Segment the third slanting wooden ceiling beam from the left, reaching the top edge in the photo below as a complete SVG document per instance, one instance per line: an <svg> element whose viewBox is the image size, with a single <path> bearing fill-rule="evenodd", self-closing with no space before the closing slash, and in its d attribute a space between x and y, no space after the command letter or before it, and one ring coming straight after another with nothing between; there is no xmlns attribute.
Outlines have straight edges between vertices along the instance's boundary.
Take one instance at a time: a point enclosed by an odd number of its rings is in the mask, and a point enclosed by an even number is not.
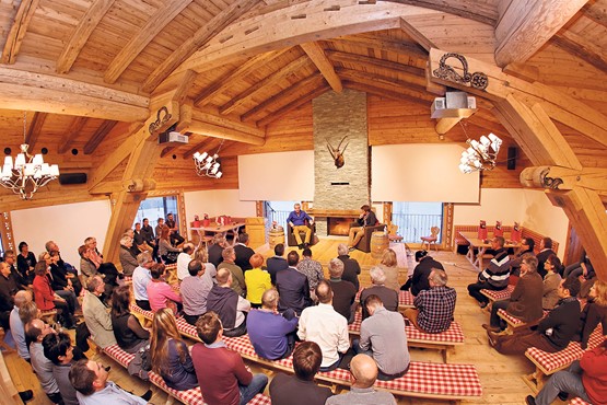
<svg viewBox="0 0 607 405"><path fill-rule="evenodd" d="M156 12L138 31L137 35L130 38L127 45L120 49L118 55L112 60L104 74L106 83L115 83L129 65L141 54L143 48L164 27L173 21L192 0L172 0L167 1L156 10Z"/></svg>

